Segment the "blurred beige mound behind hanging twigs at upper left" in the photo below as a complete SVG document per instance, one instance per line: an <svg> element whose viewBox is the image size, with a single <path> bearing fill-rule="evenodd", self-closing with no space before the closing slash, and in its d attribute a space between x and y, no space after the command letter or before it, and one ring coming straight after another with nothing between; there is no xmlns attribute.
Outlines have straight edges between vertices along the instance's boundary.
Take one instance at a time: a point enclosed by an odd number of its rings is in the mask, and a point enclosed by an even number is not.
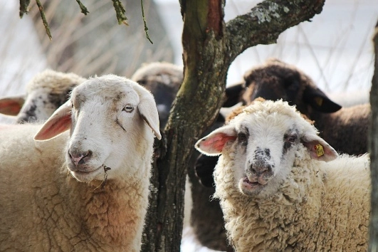
<svg viewBox="0 0 378 252"><path fill-rule="evenodd" d="M51 26L53 42L46 36L36 4L31 4L34 20L48 65L63 72L73 71L83 76L115 73L130 76L140 64L151 61L172 61L173 52L157 13L145 11L151 45L145 38L140 1L127 1L126 16L130 26L118 25L111 1L88 0L90 13L80 13L75 1L42 1L46 19Z"/></svg>

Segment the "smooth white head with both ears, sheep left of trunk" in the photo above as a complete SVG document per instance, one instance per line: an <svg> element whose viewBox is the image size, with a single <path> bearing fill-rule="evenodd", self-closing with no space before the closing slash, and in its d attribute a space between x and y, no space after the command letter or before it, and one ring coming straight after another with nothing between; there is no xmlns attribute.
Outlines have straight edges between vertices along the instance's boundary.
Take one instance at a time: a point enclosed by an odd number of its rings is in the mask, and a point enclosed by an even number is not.
<svg viewBox="0 0 378 252"><path fill-rule="evenodd" d="M161 137L153 96L137 83L115 75L92 78L75 88L35 139L48 140L68 129L68 169L81 182L103 179L108 168L107 179L122 179L125 156L130 157L127 167L133 167L132 157L151 145L152 130ZM127 142L132 149L125 149Z"/></svg>

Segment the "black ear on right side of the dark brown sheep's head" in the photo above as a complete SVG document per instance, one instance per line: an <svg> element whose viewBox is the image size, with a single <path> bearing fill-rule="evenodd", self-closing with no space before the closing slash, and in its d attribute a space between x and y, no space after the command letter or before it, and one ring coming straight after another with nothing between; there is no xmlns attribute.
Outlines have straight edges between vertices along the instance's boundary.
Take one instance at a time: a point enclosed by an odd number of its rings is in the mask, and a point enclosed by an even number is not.
<svg viewBox="0 0 378 252"><path fill-rule="evenodd" d="M332 102L319 88L307 86L303 92L303 101L319 112L332 113L341 109L341 106Z"/></svg>

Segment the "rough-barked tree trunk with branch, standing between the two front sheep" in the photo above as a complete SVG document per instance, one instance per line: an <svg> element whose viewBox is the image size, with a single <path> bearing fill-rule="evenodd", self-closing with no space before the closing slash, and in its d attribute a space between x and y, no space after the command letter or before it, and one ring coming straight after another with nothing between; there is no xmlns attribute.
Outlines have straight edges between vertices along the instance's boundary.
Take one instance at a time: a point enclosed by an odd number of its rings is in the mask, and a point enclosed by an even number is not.
<svg viewBox="0 0 378 252"><path fill-rule="evenodd" d="M324 1L263 1L224 23L224 1L180 1L184 30L184 83L163 142L157 143L142 251L179 251L184 183L194 143L222 105L226 74L246 48L274 43L286 28L320 13ZM164 143L164 144L163 144ZM190 167L191 168L191 167Z"/></svg>

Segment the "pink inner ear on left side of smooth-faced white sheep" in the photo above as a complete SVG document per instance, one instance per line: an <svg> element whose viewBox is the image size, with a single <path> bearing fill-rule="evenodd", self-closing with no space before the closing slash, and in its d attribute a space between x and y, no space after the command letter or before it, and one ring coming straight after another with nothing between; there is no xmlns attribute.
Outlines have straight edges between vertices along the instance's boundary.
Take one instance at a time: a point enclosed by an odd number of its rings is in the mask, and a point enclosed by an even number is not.
<svg viewBox="0 0 378 252"><path fill-rule="evenodd" d="M61 133L69 130L72 124L71 120L71 101L68 100L56 110L53 115L42 125L41 129L34 136L34 140L49 140Z"/></svg>

